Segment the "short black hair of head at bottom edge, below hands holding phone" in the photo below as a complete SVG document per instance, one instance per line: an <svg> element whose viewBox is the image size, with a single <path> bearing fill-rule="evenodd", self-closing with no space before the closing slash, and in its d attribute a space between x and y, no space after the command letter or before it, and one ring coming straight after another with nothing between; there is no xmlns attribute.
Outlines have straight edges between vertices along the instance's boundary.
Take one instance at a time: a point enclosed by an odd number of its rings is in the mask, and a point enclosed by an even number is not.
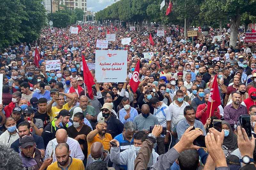
<svg viewBox="0 0 256 170"><path fill-rule="evenodd" d="M199 154L195 149L188 149L180 153L178 158L180 170L196 170L199 162Z"/></svg>

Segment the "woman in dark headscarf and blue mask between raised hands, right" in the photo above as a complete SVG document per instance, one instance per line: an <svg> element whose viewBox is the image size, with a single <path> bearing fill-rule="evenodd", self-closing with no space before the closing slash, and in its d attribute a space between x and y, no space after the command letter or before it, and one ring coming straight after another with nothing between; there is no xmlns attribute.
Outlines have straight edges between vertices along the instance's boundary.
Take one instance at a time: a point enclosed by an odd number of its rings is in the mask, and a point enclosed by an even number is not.
<svg viewBox="0 0 256 170"><path fill-rule="evenodd" d="M224 129L224 141L222 145L223 152L225 156L231 154L238 148L237 145L237 136L233 133L230 124L227 121L221 122L222 129Z"/></svg>

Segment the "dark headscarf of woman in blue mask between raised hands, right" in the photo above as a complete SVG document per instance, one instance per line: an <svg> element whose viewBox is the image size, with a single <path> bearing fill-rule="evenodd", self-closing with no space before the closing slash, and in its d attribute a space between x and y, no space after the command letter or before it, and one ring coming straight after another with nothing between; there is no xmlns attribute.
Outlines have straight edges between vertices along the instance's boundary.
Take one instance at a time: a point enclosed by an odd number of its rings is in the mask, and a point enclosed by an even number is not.
<svg viewBox="0 0 256 170"><path fill-rule="evenodd" d="M233 151L238 148L237 145L237 136L234 134L230 124L227 121L222 121L221 125L226 124L229 128L229 134L227 137L224 137L223 145L228 147L229 150Z"/></svg>

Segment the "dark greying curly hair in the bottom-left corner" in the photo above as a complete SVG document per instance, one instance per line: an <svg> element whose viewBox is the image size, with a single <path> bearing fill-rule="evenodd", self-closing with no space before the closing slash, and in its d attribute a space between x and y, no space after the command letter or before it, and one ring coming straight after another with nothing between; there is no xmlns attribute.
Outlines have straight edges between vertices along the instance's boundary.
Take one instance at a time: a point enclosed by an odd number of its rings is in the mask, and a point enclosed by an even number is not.
<svg viewBox="0 0 256 170"><path fill-rule="evenodd" d="M1 163L1 169L23 170L19 153L3 145L0 145L0 151L0 160L4 162Z"/></svg>

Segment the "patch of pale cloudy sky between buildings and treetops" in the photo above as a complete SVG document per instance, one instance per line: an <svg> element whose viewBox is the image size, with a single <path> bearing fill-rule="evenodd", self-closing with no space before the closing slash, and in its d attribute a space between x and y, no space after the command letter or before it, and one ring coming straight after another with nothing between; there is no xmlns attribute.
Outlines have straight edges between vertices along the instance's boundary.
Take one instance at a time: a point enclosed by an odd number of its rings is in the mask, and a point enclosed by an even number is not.
<svg viewBox="0 0 256 170"><path fill-rule="evenodd" d="M112 3L113 0L87 0L87 11L100 11Z"/></svg>

